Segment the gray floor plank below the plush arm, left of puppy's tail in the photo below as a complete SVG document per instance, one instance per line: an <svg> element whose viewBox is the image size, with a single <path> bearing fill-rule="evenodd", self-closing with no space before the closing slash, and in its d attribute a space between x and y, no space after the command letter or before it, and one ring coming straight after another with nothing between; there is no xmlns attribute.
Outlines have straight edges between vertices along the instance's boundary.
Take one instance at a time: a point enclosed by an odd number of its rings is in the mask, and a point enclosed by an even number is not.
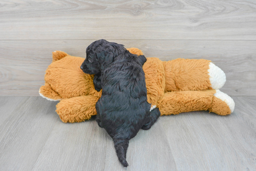
<svg viewBox="0 0 256 171"><path fill-rule="evenodd" d="M103 170L107 133L95 120L58 122L32 170ZM115 152L115 151L114 151Z"/></svg>

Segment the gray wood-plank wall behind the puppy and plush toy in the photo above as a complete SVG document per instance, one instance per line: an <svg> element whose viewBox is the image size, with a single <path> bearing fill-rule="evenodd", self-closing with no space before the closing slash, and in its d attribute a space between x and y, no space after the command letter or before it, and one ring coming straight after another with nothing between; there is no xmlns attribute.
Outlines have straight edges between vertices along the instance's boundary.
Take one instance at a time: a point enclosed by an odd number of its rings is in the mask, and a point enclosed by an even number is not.
<svg viewBox="0 0 256 171"><path fill-rule="evenodd" d="M221 91L256 96L254 0L0 0L0 95L38 96L52 51L85 57L97 39L212 60L227 76Z"/></svg>

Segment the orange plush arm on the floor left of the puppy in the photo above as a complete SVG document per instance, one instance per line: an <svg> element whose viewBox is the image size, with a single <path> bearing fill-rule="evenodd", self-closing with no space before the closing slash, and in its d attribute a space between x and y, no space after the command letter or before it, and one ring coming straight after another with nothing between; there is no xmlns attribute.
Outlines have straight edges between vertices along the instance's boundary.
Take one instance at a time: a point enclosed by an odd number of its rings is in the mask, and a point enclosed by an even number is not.
<svg viewBox="0 0 256 171"><path fill-rule="evenodd" d="M63 122L82 122L96 115L95 104L99 97L79 96L63 99L56 105L56 112Z"/></svg>

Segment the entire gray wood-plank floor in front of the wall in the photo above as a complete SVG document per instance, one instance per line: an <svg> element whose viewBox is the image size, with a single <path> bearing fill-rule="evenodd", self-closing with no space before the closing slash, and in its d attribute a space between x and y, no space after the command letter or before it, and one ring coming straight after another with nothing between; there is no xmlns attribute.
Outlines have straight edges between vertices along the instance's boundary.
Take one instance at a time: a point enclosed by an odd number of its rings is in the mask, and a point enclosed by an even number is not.
<svg viewBox="0 0 256 171"><path fill-rule="evenodd" d="M57 102L0 97L0 170L255 170L256 97L233 98L228 116L161 116L130 140L126 169L95 120L63 123Z"/></svg>

